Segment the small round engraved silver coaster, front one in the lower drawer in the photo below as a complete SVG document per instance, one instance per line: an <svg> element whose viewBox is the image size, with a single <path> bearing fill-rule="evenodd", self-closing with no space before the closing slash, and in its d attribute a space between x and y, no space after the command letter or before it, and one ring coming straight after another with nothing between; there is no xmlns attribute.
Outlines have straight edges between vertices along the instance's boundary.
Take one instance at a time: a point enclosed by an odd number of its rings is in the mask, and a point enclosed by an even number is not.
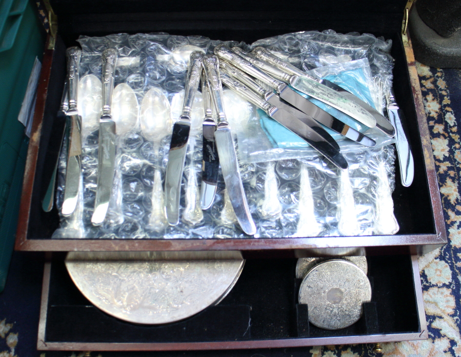
<svg viewBox="0 0 461 357"><path fill-rule="evenodd" d="M327 260L313 267L301 282L299 302L307 304L309 321L322 329L339 330L357 322L362 303L371 300L365 273L346 260Z"/></svg>

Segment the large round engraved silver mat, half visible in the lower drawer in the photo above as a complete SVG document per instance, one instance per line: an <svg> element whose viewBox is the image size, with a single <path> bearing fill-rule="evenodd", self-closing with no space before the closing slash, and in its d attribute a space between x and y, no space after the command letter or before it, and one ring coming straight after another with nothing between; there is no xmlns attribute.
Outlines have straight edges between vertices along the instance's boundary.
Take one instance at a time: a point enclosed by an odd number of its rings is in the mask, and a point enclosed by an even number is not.
<svg viewBox="0 0 461 357"><path fill-rule="evenodd" d="M244 265L243 259L79 260L70 254L65 264L81 293L107 314L139 324L179 321L219 303Z"/></svg>

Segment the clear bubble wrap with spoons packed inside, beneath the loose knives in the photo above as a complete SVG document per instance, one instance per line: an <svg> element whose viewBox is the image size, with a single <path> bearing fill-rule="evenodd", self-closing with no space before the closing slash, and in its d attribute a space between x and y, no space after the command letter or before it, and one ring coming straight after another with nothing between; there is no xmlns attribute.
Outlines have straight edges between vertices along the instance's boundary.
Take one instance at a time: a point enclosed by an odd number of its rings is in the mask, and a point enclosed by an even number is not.
<svg viewBox="0 0 461 357"><path fill-rule="evenodd" d="M200 209L201 121L204 117L200 93L192 109L191 134L182 179L180 223L168 226L164 210L164 173L172 125L179 119L182 110L189 55L196 50L211 53L222 42L164 33L81 37L79 41L82 47L78 93L83 145L81 199L72 216L61 217L60 228L53 237L248 237L237 223L221 175L214 204L208 210ZM317 78L334 76L336 82L340 82L338 84L341 84L341 78L359 69L359 84L367 91L363 94L358 90L357 94L381 110L376 88L391 78L392 59L382 52L389 50L390 42L371 35L339 35L329 31L283 35L260 40L251 47L233 41L225 43L229 47L239 45L246 50L264 45L282 59L309 70ZM319 50L313 52L309 46ZM117 169L106 219L102 225L93 226L101 53L109 47L117 48L119 52L112 97L112 115L117 128ZM318 65L323 68L312 71ZM373 149L350 145L350 142L347 145L349 140L341 140L346 142L340 141L341 152L349 162L349 170L341 174L307 144L293 147L293 142L287 141L286 147L280 142L274 145L274 140L262 124L260 110L229 89L224 89L223 96L226 114L236 137L246 197L258 227L255 238L395 233L395 229L386 229L389 225L386 222L391 222L393 217L390 194L395 182L395 155L393 146L386 145L392 140L383 140ZM66 153L63 150L58 177L59 209L65 165ZM382 197L387 199L387 203L380 205ZM389 218L389 215L392 217ZM348 223L343 224L344 221Z"/></svg>

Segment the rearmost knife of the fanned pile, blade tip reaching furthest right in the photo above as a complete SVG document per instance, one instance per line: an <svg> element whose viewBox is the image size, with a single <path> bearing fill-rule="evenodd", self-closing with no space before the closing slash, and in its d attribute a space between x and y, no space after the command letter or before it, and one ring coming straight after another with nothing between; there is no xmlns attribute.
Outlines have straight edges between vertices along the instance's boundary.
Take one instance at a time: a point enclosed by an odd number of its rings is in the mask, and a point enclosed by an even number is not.
<svg viewBox="0 0 461 357"><path fill-rule="evenodd" d="M327 79L317 80L317 79L310 77L307 73L301 71L300 69L296 68L292 64L287 63L277 58L264 47L261 47L261 46L256 47L251 54L254 55L256 58L266 61L267 63L272 64L274 67L282 71L285 71L287 74L316 80L319 83L325 85L326 87L331 88L338 93L341 93L344 97L346 97L347 99L350 99L352 102L357 103L367 112L369 112L373 116L373 118L375 118L376 120L376 127L380 129L384 134L390 137L393 137L395 135L394 127L389 123L389 121L386 118L384 118L381 115L380 112L375 110L375 108L373 108L372 106L370 106L368 103L364 102L357 96L354 96L352 93L340 87L339 85Z"/></svg>

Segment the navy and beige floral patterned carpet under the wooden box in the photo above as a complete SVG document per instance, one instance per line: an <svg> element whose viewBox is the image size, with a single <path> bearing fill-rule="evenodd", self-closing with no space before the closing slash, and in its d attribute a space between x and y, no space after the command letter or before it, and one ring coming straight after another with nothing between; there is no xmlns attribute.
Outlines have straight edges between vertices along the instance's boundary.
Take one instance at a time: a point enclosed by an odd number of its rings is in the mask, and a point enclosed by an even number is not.
<svg viewBox="0 0 461 357"><path fill-rule="evenodd" d="M449 244L419 260L429 339L382 343L382 356L461 356L461 145L458 133L458 121L461 120L461 70L441 70L418 64L418 74ZM0 357L84 356L84 353L40 353L36 350L42 270L42 254L14 254L6 288L0 295ZM373 344L364 344L198 353L134 353L129 356L377 356L373 347ZM102 352L92 353L91 356L121 357L128 354Z"/></svg>

